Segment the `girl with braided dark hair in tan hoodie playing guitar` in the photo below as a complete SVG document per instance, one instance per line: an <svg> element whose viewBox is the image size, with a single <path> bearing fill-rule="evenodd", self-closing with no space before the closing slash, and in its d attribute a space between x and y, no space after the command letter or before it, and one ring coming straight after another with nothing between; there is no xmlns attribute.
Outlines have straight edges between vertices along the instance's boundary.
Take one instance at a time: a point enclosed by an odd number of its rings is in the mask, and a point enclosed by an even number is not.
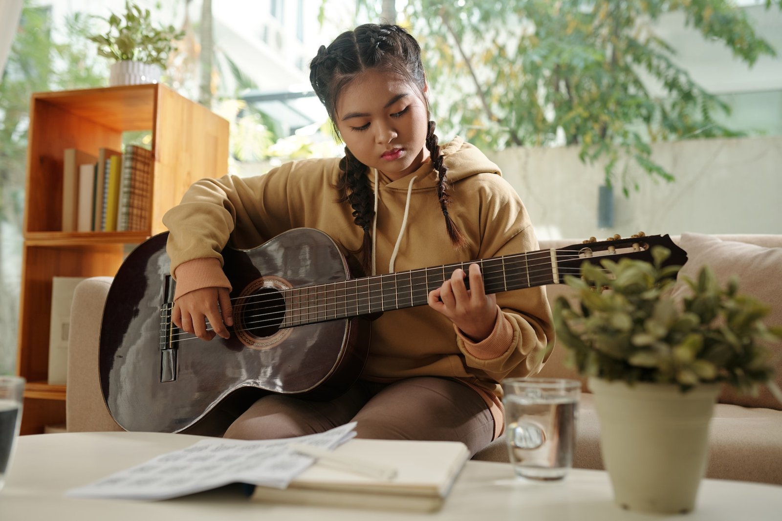
<svg viewBox="0 0 782 521"><path fill-rule="evenodd" d="M538 248L497 165L461 138L438 145L421 49L403 28L366 24L321 45L310 81L345 156L192 185L163 218L178 327L228 338L221 250L291 228L326 232L372 275ZM504 429L500 380L540 370L554 332L544 289L486 295L479 265L468 271L433 289L428 307L372 322L367 364L343 396L267 395L224 435L294 437L357 421L358 437L457 440L475 454Z"/></svg>

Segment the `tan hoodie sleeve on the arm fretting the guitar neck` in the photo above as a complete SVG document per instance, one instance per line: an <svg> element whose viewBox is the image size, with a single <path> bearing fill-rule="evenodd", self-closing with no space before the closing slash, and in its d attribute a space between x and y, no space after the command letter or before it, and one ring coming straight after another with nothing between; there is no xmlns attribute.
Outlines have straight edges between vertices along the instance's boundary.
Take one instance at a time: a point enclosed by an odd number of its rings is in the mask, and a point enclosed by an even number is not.
<svg viewBox="0 0 782 521"><path fill-rule="evenodd" d="M475 177L479 178L477 193L482 198L474 230L481 237L476 258L539 250L529 215L515 190L497 175ZM495 382L535 374L547 358L547 345L554 341L545 288L497 293L497 305L500 313L489 338L473 343L457 332L465 363L479 377Z"/></svg>

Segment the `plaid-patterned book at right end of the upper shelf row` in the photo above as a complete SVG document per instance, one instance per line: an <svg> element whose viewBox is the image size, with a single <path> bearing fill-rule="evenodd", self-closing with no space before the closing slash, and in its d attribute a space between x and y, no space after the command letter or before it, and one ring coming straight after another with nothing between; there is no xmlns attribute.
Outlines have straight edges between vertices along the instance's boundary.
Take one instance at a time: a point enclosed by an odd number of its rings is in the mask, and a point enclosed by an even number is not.
<svg viewBox="0 0 782 521"><path fill-rule="evenodd" d="M122 161L122 190L117 229L138 231L149 228L152 195L152 150L130 145Z"/></svg>

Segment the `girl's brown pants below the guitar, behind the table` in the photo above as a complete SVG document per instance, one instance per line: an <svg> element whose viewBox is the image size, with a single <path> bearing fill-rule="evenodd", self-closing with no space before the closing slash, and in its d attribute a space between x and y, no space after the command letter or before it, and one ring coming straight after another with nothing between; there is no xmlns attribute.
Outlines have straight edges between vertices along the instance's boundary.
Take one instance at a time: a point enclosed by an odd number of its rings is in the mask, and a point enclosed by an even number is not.
<svg viewBox="0 0 782 521"><path fill-rule="evenodd" d="M421 376L391 384L360 381L325 402L264 396L231 423L224 437L288 438L353 421L360 438L461 441L471 455L494 434L489 408L475 390L452 379Z"/></svg>

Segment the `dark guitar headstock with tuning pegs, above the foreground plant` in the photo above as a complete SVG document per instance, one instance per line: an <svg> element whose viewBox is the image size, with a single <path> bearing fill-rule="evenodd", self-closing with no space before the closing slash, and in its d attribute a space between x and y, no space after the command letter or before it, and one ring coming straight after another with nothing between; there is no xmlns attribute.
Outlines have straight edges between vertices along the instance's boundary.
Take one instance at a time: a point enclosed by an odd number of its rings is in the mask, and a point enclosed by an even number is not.
<svg viewBox="0 0 782 521"><path fill-rule="evenodd" d="M665 246L671 252L670 256L663 261L663 266L682 266L687 262L687 252L673 243L670 235L645 235L644 232L638 232L626 239L622 239L619 235L604 241L590 237L583 243L558 248L558 275L560 280L564 280L565 275L577 275L585 260L597 265L605 258L618 262L622 257L653 262L651 249L654 246Z"/></svg>

